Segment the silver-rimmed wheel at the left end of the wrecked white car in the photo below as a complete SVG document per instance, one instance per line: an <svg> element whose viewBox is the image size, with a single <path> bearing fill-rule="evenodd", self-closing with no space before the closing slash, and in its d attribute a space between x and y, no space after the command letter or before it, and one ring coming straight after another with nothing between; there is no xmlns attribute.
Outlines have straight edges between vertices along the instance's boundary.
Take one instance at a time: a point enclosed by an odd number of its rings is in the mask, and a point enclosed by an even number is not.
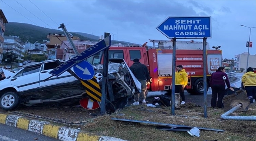
<svg viewBox="0 0 256 141"><path fill-rule="evenodd" d="M0 98L0 107L3 110L15 110L19 105L20 97L16 92L6 92Z"/></svg>

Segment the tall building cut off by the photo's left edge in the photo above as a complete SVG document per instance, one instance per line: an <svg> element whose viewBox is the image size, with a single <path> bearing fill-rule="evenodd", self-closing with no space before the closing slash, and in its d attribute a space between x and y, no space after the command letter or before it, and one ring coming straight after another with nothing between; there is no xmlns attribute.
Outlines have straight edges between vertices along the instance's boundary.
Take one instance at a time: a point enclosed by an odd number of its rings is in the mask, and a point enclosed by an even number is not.
<svg viewBox="0 0 256 141"><path fill-rule="evenodd" d="M4 12L0 9L0 63L3 59L4 32L6 31L6 23L8 23Z"/></svg>

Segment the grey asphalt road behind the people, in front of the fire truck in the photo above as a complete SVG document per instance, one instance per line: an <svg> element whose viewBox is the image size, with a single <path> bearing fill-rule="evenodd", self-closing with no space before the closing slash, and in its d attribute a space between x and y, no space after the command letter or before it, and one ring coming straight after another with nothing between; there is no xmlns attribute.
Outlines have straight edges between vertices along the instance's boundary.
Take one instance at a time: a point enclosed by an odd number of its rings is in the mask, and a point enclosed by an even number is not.
<svg viewBox="0 0 256 141"><path fill-rule="evenodd" d="M237 80L230 83L231 87L237 87L237 88L241 87L242 76L243 76L243 73L237 73L236 74ZM154 96L159 96L160 94L167 94L167 93L166 92L152 92L152 93L150 92L150 94L148 94L147 101L149 103L151 103ZM207 92L208 107L211 106L211 94L212 94L212 91L211 91L211 88L209 88L209 90ZM171 99L171 96L169 96L169 98ZM204 105L204 95L192 95L192 94L189 94L185 90L185 102L196 103L197 105L203 106Z"/></svg>

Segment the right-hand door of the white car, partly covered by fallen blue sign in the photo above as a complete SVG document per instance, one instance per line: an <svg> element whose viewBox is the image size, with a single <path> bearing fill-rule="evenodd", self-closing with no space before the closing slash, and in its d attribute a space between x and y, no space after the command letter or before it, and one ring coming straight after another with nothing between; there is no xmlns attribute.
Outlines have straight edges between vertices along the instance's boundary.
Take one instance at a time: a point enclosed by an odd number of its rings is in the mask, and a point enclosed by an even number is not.
<svg viewBox="0 0 256 141"><path fill-rule="evenodd" d="M53 76L53 77L49 78L50 76L52 76L52 74L49 74L49 72L52 71L53 69L55 69L58 66L59 66L59 64L57 63L56 60L48 61L48 62L45 62L43 64L43 67L41 68L40 76L39 76L40 87L53 86L53 85L56 85L56 84L68 83L68 82L72 82L72 81L77 80L74 76L72 76L67 71L64 72L63 74L61 74L58 77ZM44 81L46 78L49 78L49 79Z"/></svg>

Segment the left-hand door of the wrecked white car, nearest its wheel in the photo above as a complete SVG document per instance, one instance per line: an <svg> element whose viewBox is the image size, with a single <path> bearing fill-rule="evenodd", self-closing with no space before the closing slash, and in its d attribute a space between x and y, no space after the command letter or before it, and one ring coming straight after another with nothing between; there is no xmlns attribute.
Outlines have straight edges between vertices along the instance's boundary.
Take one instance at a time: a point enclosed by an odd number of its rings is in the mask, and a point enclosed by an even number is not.
<svg viewBox="0 0 256 141"><path fill-rule="evenodd" d="M11 78L11 84L18 87L20 92L39 88L39 71L41 65L42 63L25 67Z"/></svg>

